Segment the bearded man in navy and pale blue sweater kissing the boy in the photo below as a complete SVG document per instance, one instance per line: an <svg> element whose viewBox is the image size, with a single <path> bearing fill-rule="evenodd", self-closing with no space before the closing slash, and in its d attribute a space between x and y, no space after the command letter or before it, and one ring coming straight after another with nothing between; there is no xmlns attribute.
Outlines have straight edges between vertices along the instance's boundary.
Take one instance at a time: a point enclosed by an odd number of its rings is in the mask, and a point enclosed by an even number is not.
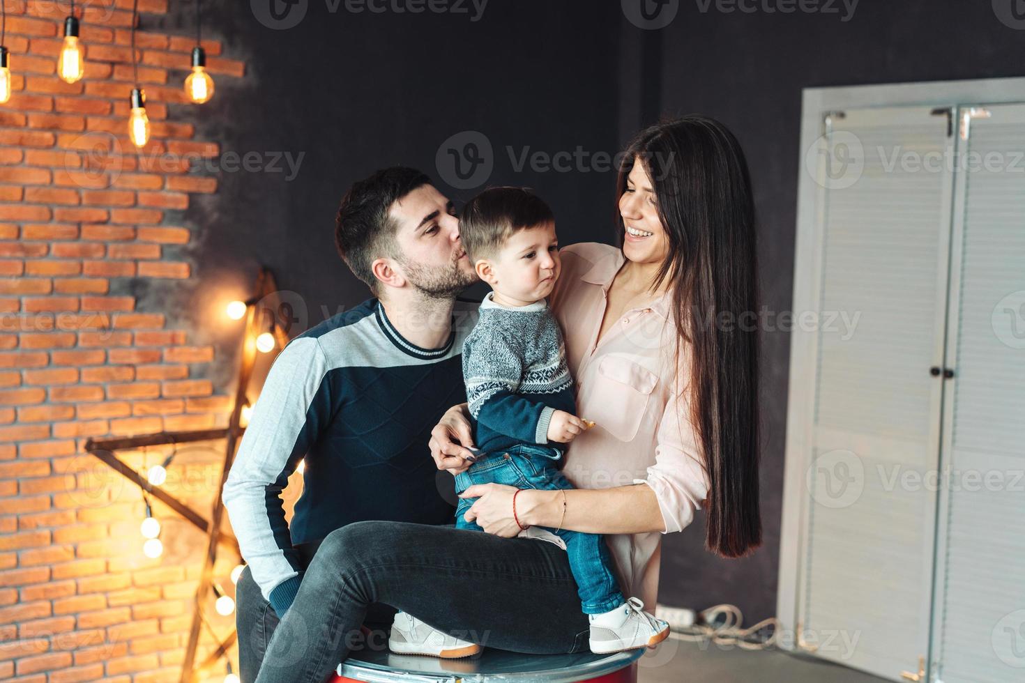
<svg viewBox="0 0 1025 683"><path fill-rule="evenodd" d="M237 588L243 681L255 679L328 533L361 520L453 521L427 445L444 410L465 400L460 352L478 308L456 300L477 275L453 214L409 168L377 171L342 198L338 251L375 298L282 350L222 494L248 563ZM302 460L289 527L280 494ZM406 642L474 646L422 623L400 634Z"/></svg>

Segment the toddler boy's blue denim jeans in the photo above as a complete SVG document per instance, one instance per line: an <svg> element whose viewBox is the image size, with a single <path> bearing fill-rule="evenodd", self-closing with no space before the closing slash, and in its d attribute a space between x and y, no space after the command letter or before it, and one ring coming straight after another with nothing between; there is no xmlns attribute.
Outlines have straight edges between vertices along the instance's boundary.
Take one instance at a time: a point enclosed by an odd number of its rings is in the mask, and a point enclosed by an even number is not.
<svg viewBox="0 0 1025 683"><path fill-rule="evenodd" d="M481 454L468 470L455 476L455 492L461 494L477 483L502 483L517 488L547 490L573 488L573 484L557 467L562 457L563 454L558 449L529 443ZM467 522L463 518L476 500L459 499L455 511L456 528L484 530L476 522ZM577 593L585 614L602 614L625 602L619 591L619 583L612 573L609 549L600 535L566 529L556 531L554 528L547 530L566 542L570 569L576 580Z"/></svg>

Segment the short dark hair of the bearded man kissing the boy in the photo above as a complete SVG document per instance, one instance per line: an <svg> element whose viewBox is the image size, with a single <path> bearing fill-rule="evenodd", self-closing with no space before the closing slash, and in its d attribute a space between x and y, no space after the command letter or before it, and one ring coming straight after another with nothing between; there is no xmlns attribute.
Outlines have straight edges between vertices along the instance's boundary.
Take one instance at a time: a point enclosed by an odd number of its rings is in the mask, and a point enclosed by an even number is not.
<svg viewBox="0 0 1025 683"><path fill-rule="evenodd" d="M430 178L424 173L393 166L353 183L341 198L335 217L335 245L353 274L374 294L379 291L379 283L370 264L382 256L398 256L395 242L398 226L388 216L388 209L417 187L429 184Z"/></svg>

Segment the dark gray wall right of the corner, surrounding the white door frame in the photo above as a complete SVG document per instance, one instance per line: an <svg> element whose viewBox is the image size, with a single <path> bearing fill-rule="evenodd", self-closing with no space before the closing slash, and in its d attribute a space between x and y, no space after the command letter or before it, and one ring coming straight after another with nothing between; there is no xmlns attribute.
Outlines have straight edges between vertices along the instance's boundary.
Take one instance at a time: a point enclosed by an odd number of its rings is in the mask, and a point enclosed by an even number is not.
<svg viewBox="0 0 1025 683"><path fill-rule="evenodd" d="M702 12L704 0L682 0L672 23L650 32L662 55L659 110L714 117L744 146L763 303L777 312L789 310L792 299L802 88L1020 76L1025 63L1025 31L998 20L988 0L861 0L847 22L843 2L831 4L838 14L725 13L714 0ZM665 539L660 594L670 604L735 603L748 624L776 611L787 334L764 335L763 364L765 547L746 560L716 559L702 550L695 523Z"/></svg>

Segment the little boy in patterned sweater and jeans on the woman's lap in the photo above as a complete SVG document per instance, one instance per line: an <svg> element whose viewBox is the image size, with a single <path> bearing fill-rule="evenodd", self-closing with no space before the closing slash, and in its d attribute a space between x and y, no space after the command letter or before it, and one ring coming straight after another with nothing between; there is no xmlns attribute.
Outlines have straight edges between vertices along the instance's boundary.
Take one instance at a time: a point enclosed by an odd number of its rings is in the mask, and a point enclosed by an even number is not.
<svg viewBox="0 0 1025 683"><path fill-rule="evenodd" d="M566 444L587 423L574 415L562 332L544 299L561 267L551 210L530 190L493 187L463 209L459 233L478 275L493 291L462 347L479 455L456 475L456 493L488 482L572 488L561 472ZM464 518L474 500L459 500L458 528L483 530ZM601 536L548 530L565 543L590 622L592 652L646 647L668 636L668 624L643 611L637 598L624 599Z"/></svg>

